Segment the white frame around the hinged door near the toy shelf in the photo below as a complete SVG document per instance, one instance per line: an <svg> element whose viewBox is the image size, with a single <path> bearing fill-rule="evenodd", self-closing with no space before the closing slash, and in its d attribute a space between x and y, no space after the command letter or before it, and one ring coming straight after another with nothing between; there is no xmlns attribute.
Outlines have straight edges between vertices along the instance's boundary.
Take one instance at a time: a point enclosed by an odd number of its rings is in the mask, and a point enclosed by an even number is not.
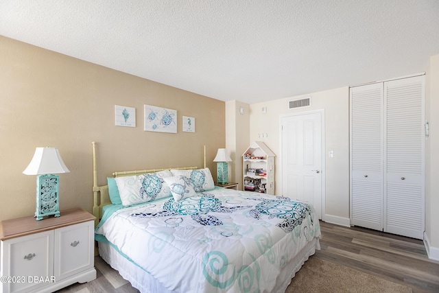
<svg viewBox="0 0 439 293"><path fill-rule="evenodd" d="M324 137L325 137L325 131L324 131L324 109L320 109L320 110L309 110L309 111L303 111L303 112L296 112L296 113L289 113L289 114L283 114L283 115L279 115L279 165L280 165L280 178L281 178L281 194L283 195L283 131L282 131L282 122L283 119L288 118L288 117L293 117L293 116L302 116L302 115L310 115L310 114L316 114L316 113L320 113L320 116L322 118L321 121L321 128L322 128L322 145L321 145L321 150L322 150L322 176L321 176L321 184L322 184L322 191L321 191L321 200L322 200L322 221L326 220L326 149L324 148Z"/></svg>

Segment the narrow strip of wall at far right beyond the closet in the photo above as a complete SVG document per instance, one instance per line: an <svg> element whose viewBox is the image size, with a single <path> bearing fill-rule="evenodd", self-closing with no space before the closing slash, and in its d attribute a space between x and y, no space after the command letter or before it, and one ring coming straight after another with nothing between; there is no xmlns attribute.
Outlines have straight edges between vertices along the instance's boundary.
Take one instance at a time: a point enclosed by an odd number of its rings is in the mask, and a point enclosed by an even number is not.
<svg viewBox="0 0 439 293"><path fill-rule="evenodd" d="M425 242L429 256L439 261L439 55L430 58L425 90L425 118L429 121L429 138L425 141Z"/></svg>

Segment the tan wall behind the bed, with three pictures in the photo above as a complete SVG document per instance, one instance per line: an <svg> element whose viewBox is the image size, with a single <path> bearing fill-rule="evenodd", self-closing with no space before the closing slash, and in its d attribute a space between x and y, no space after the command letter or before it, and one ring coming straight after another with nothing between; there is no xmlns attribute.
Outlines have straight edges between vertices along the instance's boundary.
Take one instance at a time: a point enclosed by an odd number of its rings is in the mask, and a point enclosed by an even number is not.
<svg viewBox="0 0 439 293"><path fill-rule="evenodd" d="M136 108L136 128L115 126L115 105ZM178 133L143 131L143 105L177 110ZM182 115L195 133L182 132ZM36 147L60 150L60 209L91 211L92 141L99 185L127 169L202 167L214 178L225 145L225 103L0 36L0 220L32 215L36 176L22 174Z"/></svg>

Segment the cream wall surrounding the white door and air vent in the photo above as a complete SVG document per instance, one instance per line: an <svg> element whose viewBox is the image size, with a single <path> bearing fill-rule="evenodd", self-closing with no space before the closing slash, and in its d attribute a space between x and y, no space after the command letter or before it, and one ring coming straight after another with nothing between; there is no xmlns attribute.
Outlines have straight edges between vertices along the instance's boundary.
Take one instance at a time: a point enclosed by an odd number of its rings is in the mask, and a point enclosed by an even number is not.
<svg viewBox="0 0 439 293"><path fill-rule="evenodd" d="M311 97L311 106L289 110L292 99ZM266 107L266 114L262 108ZM280 154L280 116L311 110L324 110L324 145L327 154L334 152L333 158L326 158L326 187L324 218L330 222L348 224L349 218L349 89L343 87L308 95L277 99L250 105L250 142L263 141L276 154L275 193L282 194ZM263 134L263 137L259 137Z"/></svg>

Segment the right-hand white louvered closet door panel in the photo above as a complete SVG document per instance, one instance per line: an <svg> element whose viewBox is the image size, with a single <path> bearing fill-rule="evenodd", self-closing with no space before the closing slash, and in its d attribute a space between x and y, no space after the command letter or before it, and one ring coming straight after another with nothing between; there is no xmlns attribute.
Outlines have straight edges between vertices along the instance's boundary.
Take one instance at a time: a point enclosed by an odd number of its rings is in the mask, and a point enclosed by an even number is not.
<svg viewBox="0 0 439 293"><path fill-rule="evenodd" d="M424 76L384 83L384 231L423 239Z"/></svg>

